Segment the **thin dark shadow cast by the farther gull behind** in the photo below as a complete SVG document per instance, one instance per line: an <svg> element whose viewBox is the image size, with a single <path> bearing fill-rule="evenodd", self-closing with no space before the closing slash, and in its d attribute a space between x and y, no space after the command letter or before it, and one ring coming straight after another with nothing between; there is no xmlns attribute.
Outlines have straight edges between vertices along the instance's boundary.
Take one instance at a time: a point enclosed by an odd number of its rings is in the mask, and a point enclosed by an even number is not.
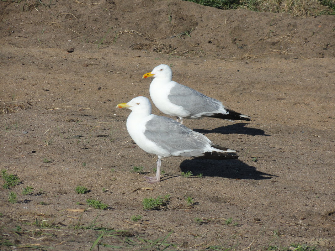
<svg viewBox="0 0 335 251"><path fill-rule="evenodd" d="M265 134L265 132L261 129L245 127L248 123L236 123L230 124L229 126L223 126L214 128L212 130L206 129L193 129L193 131L207 134L207 133L220 133L220 134L247 134L247 135L260 135L260 136L270 136L269 134Z"/></svg>

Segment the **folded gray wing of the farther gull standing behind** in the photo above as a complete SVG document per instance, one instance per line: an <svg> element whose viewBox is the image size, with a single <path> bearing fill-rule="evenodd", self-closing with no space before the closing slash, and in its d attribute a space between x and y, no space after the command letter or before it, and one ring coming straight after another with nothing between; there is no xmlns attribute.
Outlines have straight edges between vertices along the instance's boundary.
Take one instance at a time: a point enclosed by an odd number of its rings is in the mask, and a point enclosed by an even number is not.
<svg viewBox="0 0 335 251"><path fill-rule="evenodd" d="M218 112L223 106L220 101L181 84L174 86L167 98L171 103L183 106L185 110L194 115Z"/></svg>

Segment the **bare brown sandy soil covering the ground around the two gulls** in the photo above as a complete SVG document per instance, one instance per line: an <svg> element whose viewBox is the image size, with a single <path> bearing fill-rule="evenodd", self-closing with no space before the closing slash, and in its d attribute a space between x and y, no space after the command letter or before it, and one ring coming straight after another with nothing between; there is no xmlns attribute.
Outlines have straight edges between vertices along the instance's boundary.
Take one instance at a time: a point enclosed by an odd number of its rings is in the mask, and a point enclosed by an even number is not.
<svg viewBox="0 0 335 251"><path fill-rule="evenodd" d="M94 250L334 250L335 16L46 2L0 3L0 167L21 181L0 188L0 250L89 250L102 233ZM252 117L185 121L238 160L167 158L156 184L132 172L153 175L156 156L136 147L130 111L115 107L149 97L141 77L162 63ZM166 194L167 206L143 210L144 198Z"/></svg>

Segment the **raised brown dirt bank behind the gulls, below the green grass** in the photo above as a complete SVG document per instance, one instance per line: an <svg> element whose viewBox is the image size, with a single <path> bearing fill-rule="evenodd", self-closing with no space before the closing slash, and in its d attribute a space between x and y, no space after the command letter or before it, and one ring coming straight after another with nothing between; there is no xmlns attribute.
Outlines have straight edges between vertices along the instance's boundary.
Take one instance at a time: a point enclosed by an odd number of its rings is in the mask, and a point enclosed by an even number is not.
<svg viewBox="0 0 335 251"><path fill-rule="evenodd" d="M334 57L334 16L219 10L187 1L2 3L2 43L131 48L219 59ZM22 11L22 9L24 11ZM13 39L15 37L15 39ZM10 39L12 38L12 39ZM71 40L71 43L68 42Z"/></svg>

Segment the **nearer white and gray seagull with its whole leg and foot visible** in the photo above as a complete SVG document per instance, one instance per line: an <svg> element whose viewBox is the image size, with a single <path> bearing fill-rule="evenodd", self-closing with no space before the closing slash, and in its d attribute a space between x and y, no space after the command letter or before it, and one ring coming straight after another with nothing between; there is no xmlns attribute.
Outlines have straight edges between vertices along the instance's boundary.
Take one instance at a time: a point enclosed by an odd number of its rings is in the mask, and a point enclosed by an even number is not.
<svg viewBox="0 0 335 251"><path fill-rule="evenodd" d="M118 108L129 108L127 130L135 143L147 153L158 156L155 177L145 177L148 183L160 181L161 158L171 156L205 159L236 159L238 151L213 144L206 136L164 116L151 114L148 98L140 96Z"/></svg>

